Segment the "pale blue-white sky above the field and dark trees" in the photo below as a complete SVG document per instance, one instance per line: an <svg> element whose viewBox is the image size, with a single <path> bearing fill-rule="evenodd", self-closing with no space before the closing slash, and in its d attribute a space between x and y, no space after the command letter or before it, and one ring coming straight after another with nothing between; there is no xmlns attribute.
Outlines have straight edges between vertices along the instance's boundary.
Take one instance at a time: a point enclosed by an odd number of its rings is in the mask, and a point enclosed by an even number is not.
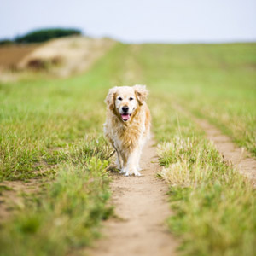
<svg viewBox="0 0 256 256"><path fill-rule="evenodd" d="M1 0L0 38L45 27L125 43L256 41L256 0Z"/></svg>

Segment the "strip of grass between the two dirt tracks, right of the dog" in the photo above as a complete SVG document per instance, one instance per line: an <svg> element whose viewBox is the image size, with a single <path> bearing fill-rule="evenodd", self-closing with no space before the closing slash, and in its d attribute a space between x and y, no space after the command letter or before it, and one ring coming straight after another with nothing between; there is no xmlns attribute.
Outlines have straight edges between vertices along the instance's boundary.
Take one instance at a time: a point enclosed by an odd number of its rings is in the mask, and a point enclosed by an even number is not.
<svg viewBox="0 0 256 256"><path fill-rule="evenodd" d="M154 99L157 101L157 99ZM154 119L159 173L170 184L170 230L184 255L254 255L256 191L191 121L160 99ZM167 129L169 127L169 129Z"/></svg>

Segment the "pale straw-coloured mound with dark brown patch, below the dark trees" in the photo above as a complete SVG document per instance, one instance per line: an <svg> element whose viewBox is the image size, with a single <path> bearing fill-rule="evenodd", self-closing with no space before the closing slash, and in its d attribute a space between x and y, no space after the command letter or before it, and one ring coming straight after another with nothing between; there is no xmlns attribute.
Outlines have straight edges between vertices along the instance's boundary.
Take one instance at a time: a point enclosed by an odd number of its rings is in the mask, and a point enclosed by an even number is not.
<svg viewBox="0 0 256 256"><path fill-rule="evenodd" d="M109 38L68 37L50 40L18 63L19 69L48 70L60 77L84 72L115 41Z"/></svg>

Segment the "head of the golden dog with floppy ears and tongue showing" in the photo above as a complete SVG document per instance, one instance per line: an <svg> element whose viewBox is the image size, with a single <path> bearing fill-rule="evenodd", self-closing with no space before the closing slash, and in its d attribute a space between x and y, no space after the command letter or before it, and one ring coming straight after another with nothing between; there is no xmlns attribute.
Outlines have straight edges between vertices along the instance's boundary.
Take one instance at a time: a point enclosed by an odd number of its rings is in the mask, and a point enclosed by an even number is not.
<svg viewBox="0 0 256 256"><path fill-rule="evenodd" d="M116 86L108 91L105 102L113 113L127 122L137 108L143 105L147 96L148 90L145 85Z"/></svg>

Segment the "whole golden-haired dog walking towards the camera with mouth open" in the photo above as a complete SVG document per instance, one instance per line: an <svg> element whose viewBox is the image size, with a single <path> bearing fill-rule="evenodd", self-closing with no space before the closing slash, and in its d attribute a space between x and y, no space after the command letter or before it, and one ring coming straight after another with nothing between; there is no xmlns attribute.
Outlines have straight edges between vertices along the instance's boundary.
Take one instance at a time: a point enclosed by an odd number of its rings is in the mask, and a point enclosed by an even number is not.
<svg viewBox="0 0 256 256"><path fill-rule="evenodd" d="M139 160L150 135L147 96L146 86L137 84L113 87L105 100L108 110L104 133L117 153L117 167L125 176L141 175Z"/></svg>

